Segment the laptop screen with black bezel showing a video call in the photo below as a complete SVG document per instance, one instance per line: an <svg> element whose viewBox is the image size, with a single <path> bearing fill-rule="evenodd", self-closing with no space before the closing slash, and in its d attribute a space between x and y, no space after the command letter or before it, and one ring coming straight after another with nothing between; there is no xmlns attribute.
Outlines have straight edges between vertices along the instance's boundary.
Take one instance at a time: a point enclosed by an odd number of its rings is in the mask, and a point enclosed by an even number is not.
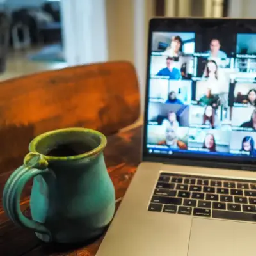
<svg viewBox="0 0 256 256"><path fill-rule="evenodd" d="M256 21L151 20L148 156L252 161L255 106Z"/></svg>

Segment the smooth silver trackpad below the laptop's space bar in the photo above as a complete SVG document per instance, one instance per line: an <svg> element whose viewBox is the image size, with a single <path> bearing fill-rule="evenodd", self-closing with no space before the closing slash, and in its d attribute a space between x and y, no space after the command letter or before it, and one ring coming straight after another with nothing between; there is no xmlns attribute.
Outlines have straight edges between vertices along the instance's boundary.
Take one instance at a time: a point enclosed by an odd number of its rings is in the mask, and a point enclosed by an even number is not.
<svg viewBox="0 0 256 256"><path fill-rule="evenodd" d="M255 255L256 225L193 218L188 256Z"/></svg>

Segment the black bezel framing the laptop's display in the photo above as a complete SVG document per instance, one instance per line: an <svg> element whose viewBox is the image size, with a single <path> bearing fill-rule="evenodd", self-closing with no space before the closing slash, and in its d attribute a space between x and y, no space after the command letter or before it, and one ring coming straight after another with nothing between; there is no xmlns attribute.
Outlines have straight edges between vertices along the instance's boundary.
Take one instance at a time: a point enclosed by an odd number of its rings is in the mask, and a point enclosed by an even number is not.
<svg viewBox="0 0 256 256"><path fill-rule="evenodd" d="M179 22L179 29L175 26ZM180 29L180 23L186 24L183 29ZM193 25L193 30L189 29L189 24ZM256 19L230 19L230 18L153 18L150 20L148 28L148 49L147 49L147 77L145 86L145 111L144 111L144 125L143 125L143 148L142 148L142 160L143 161L153 161L160 163L173 163L177 164L180 161L189 161L191 165L195 163L196 166L207 166L209 163L212 166L218 166L227 168L228 164L232 163L232 169L244 169L244 166L248 166L248 170L253 170L253 164L256 163L256 157L236 157L236 156L211 156L208 154L182 154L182 152L172 155L163 156L163 154L150 154L147 148L147 120L148 120L148 104L149 104L149 81L150 81L150 57L152 52L152 33L153 32L195 32L195 26L207 26L211 24L218 26L233 26L236 28L236 33L244 32L246 33L246 26L253 25L254 31L251 33L256 33ZM252 28L252 27L251 27ZM248 31L248 30L247 30ZM256 132L256 131L255 131ZM189 156L190 155L190 156ZM216 163L218 160L218 163ZM180 163L182 164L182 163ZM236 168L235 168L236 167ZM246 167L247 168L247 167ZM246 169L247 170L247 169ZM255 166L256 170L256 166Z"/></svg>

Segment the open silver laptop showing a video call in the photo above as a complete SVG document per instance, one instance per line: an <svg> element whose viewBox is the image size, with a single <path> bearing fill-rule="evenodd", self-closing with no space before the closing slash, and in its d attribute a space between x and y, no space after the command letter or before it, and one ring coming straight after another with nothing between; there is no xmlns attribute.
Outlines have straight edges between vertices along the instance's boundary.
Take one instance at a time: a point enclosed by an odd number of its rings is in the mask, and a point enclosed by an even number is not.
<svg viewBox="0 0 256 256"><path fill-rule="evenodd" d="M97 256L255 255L256 20L150 20L142 163Z"/></svg>

